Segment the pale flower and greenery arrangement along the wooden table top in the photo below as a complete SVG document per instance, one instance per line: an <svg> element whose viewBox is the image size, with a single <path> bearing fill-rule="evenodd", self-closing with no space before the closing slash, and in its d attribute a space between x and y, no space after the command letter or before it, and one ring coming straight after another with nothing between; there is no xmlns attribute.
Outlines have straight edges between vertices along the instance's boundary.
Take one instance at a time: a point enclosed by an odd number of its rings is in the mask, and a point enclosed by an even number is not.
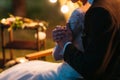
<svg viewBox="0 0 120 80"><path fill-rule="evenodd" d="M0 23L2 23L3 25L8 25L10 26L8 28L8 31L12 30L12 29L17 29L17 28L21 28L24 29L25 26L36 26L39 25L39 30L40 31L46 31L48 23L46 21L33 21L29 18L23 18L23 17L19 17L19 16L13 16L13 15L9 15L9 18L3 18Z"/></svg>

